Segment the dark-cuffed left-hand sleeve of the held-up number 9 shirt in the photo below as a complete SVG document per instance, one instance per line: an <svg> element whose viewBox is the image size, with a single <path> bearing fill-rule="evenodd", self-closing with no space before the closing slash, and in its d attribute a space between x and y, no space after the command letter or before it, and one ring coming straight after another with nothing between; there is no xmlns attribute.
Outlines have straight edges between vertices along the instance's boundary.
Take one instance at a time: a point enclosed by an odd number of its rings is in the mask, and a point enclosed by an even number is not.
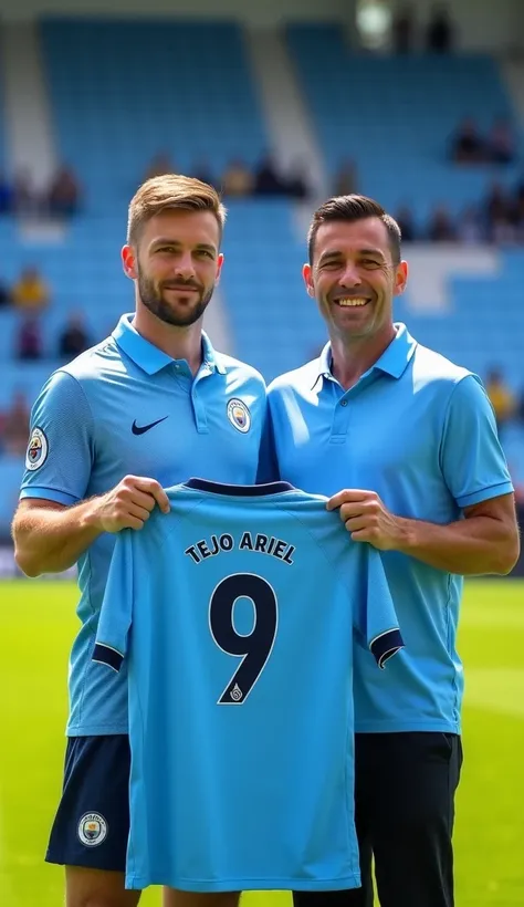
<svg viewBox="0 0 524 907"><path fill-rule="evenodd" d="M102 603L92 660L119 671L127 654L133 621L133 530L116 536Z"/></svg>

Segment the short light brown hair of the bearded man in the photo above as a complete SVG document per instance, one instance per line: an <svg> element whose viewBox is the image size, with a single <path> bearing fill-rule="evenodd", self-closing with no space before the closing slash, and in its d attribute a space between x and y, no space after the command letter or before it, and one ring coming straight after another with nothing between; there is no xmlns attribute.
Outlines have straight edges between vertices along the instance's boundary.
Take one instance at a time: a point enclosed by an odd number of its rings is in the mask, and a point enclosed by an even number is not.
<svg viewBox="0 0 524 907"><path fill-rule="evenodd" d="M217 218L222 238L227 211L217 190L190 176L165 174L146 179L132 198L127 218L127 242L136 243L144 225L155 215L168 209L211 211Z"/></svg>

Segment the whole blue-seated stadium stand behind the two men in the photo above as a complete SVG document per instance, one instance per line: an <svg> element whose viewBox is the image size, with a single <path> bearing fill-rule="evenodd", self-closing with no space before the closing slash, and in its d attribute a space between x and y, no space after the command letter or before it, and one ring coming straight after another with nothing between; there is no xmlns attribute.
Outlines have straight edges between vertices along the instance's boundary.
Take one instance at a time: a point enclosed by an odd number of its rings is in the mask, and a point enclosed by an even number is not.
<svg viewBox="0 0 524 907"><path fill-rule="evenodd" d="M39 362L14 358L20 316L12 307L0 309L0 410L18 390L34 399L59 364L57 334L70 313L84 313L96 342L130 307L118 250L127 201L155 155L167 150L177 169L191 173L209 159L211 142L212 176L220 180L232 159L255 167L271 148L248 44L234 23L46 18L40 39L57 156L78 176L85 204L63 231L44 239L22 239L13 220L0 220L2 280L12 284L25 265L34 264L51 288L51 302L39 319ZM497 116L511 122L511 101L492 59L352 54L338 25L318 23L289 25L285 39L331 177L353 158L359 190L394 213L412 205L421 223L441 202L458 213L485 194L493 168L454 166L447 158L447 139L464 113L481 128ZM147 65L129 65L134 59ZM0 116L0 168L3 135ZM520 163L497 179L515 185ZM325 338L300 278L304 221L285 198L227 204L221 296L233 351L272 379L315 355ZM420 342L483 377L502 363L505 379L520 395L524 251L495 250L495 259L493 273L451 269L441 310L426 311L408 293L396 315ZM524 481L522 424L511 426L504 444L515 477ZM3 535L21 469L20 458L0 454L0 482L9 489L0 510Z"/></svg>

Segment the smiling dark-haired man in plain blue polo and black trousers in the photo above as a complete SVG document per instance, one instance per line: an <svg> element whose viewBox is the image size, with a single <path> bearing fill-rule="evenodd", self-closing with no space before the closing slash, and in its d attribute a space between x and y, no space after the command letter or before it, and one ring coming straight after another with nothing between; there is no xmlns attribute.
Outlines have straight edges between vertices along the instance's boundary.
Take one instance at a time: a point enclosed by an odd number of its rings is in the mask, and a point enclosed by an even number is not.
<svg viewBox="0 0 524 907"><path fill-rule="evenodd" d="M328 496L348 544L384 552L406 648L381 677L355 649L363 887L295 893L295 907L371 907L371 856L381 907L451 907L462 576L515 564L513 489L479 379L394 323L408 278L396 221L369 198L329 199L308 257L329 343L271 385L259 480Z"/></svg>

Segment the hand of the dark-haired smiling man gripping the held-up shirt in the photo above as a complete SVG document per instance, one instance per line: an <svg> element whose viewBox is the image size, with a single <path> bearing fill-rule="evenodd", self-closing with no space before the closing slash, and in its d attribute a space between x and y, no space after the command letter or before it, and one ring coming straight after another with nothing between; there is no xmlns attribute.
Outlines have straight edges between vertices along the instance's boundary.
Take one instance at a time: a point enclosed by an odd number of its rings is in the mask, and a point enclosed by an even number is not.
<svg viewBox="0 0 524 907"><path fill-rule="evenodd" d="M369 542L380 551L401 548L405 521L390 513L375 491L344 489L327 502L327 510L337 508L354 542Z"/></svg>

